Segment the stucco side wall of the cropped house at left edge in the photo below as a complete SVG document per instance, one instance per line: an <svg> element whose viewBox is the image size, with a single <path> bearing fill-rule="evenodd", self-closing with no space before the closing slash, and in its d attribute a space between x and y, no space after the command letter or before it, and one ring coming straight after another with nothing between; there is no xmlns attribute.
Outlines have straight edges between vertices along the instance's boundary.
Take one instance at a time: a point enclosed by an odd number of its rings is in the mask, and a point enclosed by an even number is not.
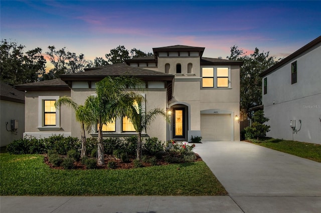
<svg viewBox="0 0 321 213"><path fill-rule="evenodd" d="M5 146L13 140L23 137L25 131L25 104L12 102L8 100L0 100L1 121L0 121L0 146ZM18 120L17 131L11 130L11 120ZM6 128L6 122L7 128Z"/></svg>

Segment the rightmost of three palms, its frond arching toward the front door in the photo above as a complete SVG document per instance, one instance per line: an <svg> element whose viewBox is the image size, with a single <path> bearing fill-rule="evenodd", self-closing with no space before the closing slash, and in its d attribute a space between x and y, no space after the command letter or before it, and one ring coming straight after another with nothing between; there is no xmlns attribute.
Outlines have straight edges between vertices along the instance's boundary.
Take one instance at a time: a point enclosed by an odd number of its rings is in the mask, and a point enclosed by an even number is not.
<svg viewBox="0 0 321 213"><path fill-rule="evenodd" d="M127 116L129 117L131 123L133 124L137 132L136 158L140 160L142 155L142 148L141 148L142 130L146 131L148 126L151 124L152 121L154 121L156 115L158 114L163 115L163 117L165 117L166 121L168 122L170 122L170 117L166 114L164 109L154 108L145 112L144 110L142 110L141 104L138 104L138 108L137 108L137 106L135 106L134 104L135 100L129 100L129 101L131 101L132 104L128 104L128 105L131 105L132 107L128 108Z"/></svg>

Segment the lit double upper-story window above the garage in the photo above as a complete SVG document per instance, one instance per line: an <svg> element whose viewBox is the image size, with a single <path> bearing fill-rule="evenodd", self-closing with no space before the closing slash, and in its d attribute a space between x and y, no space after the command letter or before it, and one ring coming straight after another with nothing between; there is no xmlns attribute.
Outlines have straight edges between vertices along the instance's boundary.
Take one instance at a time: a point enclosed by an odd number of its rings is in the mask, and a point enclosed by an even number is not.
<svg viewBox="0 0 321 213"><path fill-rule="evenodd" d="M230 87L230 68L202 67L202 87Z"/></svg>

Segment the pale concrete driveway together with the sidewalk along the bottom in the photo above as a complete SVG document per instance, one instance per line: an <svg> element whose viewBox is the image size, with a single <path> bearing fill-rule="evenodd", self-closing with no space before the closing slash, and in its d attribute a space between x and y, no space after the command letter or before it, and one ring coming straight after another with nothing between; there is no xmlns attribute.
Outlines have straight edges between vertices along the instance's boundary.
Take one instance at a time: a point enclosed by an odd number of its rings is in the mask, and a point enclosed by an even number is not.
<svg viewBox="0 0 321 213"><path fill-rule="evenodd" d="M3 212L321 212L321 163L247 142L196 144L228 196L1 196Z"/></svg>

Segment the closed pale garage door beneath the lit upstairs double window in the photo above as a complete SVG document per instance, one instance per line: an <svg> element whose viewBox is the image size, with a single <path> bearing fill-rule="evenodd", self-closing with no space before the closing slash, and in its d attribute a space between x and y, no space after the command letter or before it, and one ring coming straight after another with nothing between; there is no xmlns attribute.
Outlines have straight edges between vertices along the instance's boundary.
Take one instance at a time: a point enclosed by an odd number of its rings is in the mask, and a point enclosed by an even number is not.
<svg viewBox="0 0 321 213"><path fill-rule="evenodd" d="M201 114L202 140L231 140L231 114Z"/></svg>

